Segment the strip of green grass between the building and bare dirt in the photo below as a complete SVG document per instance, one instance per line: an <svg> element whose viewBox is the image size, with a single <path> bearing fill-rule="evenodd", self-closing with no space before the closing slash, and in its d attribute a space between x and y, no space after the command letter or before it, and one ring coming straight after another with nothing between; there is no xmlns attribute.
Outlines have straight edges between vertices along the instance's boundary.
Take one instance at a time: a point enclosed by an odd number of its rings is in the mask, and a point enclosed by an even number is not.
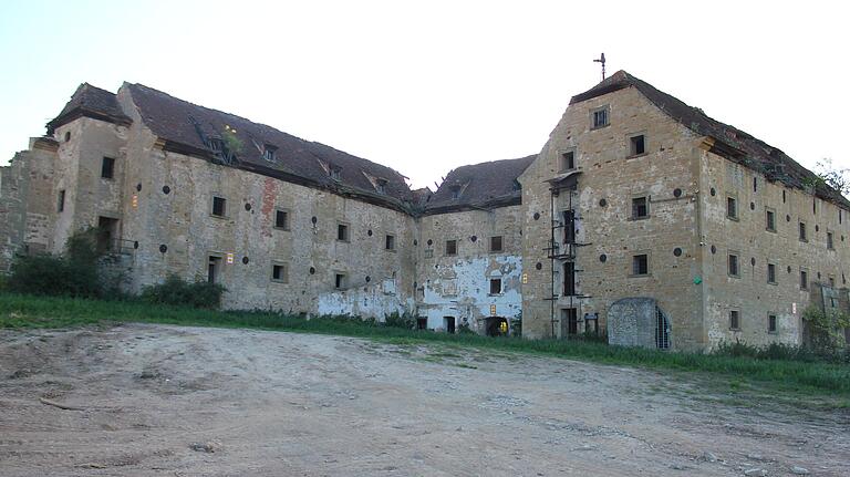
<svg viewBox="0 0 850 477"><path fill-rule="evenodd" d="M828 397L841 403L850 400L850 366L826 362L756 359L661 352L609 346L603 343L561 340L487 338L477 334L446 334L384 326L343 318L305 320L272 312L212 311L182 307L152 305L135 301L95 301L73 298L30 297L0 293L0 328L68 328L105 322L166 323L193 326L250 328L303 333L367 338L397 346L427 343L446 352L462 349L528 353L603 364L629 365L674 372L699 372L723 379L729 392L746 391L753 384L774 391ZM442 360L440 360L442 361ZM713 377L712 377L713 380Z"/></svg>

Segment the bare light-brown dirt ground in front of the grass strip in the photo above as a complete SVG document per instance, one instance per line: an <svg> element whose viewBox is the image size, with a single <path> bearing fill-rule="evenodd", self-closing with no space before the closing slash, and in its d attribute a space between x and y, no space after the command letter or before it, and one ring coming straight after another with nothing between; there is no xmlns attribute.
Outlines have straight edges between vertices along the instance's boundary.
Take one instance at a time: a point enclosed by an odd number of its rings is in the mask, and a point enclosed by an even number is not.
<svg viewBox="0 0 850 477"><path fill-rule="evenodd" d="M850 475L847 412L742 406L704 388L446 345L0 331L0 475Z"/></svg>

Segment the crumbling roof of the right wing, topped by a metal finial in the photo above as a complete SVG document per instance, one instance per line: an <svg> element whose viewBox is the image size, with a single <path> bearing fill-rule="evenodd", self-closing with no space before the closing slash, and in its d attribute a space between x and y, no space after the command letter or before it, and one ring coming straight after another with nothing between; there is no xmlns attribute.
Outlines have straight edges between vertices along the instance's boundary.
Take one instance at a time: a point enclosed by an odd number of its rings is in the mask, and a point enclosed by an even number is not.
<svg viewBox="0 0 850 477"><path fill-rule="evenodd" d="M570 105L626 87L636 87L656 107L694 133L713 137L715 142L712 152L764 174L768 180L813 191L823 200L850 209L850 201L847 198L823 184L815 173L788 157L780 149L737 127L709 117L703 110L688 106L681 100L655 89L623 70L618 71L584 93L572 96Z"/></svg>

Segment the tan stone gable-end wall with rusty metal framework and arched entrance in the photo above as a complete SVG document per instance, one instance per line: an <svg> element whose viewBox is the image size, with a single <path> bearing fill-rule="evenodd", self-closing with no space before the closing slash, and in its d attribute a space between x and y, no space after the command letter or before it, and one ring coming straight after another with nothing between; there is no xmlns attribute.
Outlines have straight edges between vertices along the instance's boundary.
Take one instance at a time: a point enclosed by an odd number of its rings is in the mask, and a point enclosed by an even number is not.
<svg viewBox="0 0 850 477"><path fill-rule="evenodd" d="M591 112L609 107L609 125L592 129ZM646 153L630 156L630 137L644 134ZM538 159L520 177L522 184L522 260L528 283L522 288L524 334L560 334L562 309L576 308L579 319L598 313L605 328L609 307L629 297L654 298L668 315L674 348L702 345L701 255L697 234L696 158L691 133L672 121L636 90L626 89L567 108ZM574 151L578 186L552 204L547 180L559 175L561 155ZM678 189L676 196L674 191ZM649 198L650 217L633 220L632 198ZM577 295L562 295L562 263L548 258L552 220L577 214L574 248ZM554 209L554 217L551 210ZM561 250L562 229L556 230ZM674 250L680 249L678 256ZM650 273L632 273L632 256L650 256ZM602 256L604 255L604 259ZM604 260L604 261L602 261ZM698 281L698 280L697 280ZM547 301L558 295L552 302ZM554 314L556 322L551 322ZM580 328L580 332L583 328Z"/></svg>

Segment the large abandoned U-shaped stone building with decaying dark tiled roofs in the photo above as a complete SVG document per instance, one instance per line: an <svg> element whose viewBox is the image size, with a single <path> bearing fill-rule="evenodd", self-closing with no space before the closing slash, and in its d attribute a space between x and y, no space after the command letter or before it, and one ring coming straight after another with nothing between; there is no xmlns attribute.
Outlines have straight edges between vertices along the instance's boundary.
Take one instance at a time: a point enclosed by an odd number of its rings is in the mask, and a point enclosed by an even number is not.
<svg viewBox="0 0 850 477"><path fill-rule="evenodd" d="M807 307L850 302L850 203L623 71L539 154L433 193L141 84L81 85L46 133L0 168L2 270L96 226L131 292L177 274L231 309L662 349L799 343Z"/></svg>

